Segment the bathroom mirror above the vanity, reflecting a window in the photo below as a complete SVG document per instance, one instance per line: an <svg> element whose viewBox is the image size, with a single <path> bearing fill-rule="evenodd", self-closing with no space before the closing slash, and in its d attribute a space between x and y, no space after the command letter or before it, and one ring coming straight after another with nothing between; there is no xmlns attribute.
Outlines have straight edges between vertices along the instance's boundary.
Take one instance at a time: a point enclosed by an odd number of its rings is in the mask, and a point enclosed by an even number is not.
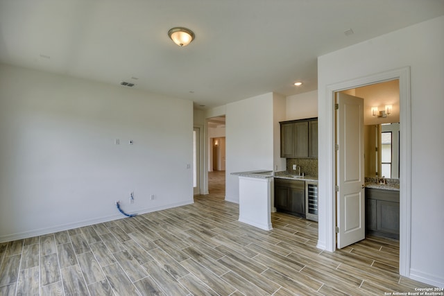
<svg viewBox="0 0 444 296"><path fill-rule="evenodd" d="M399 179L400 123L364 126L366 177Z"/></svg>

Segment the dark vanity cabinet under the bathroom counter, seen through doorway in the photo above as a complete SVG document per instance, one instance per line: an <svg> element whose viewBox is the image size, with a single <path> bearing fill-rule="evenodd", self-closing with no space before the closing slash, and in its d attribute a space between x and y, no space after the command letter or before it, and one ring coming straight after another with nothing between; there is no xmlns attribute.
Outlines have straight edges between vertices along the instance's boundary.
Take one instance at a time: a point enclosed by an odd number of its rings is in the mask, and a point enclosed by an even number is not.
<svg viewBox="0 0 444 296"><path fill-rule="evenodd" d="M400 192L366 188L366 232L400 238Z"/></svg>

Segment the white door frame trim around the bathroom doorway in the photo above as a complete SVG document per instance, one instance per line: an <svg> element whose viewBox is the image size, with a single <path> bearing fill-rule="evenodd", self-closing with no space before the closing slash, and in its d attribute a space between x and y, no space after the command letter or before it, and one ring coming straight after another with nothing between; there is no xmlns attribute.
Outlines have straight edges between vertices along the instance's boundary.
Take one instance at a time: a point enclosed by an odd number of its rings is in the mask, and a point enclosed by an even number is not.
<svg viewBox="0 0 444 296"><path fill-rule="evenodd" d="M330 151L327 159L330 170L327 172L327 186L330 196L325 200L323 220L326 229L325 250L334 252L336 250L336 204L335 197L335 166L334 166L334 93L345 89L373 85L378 82L398 79L400 82L400 275L410 275L410 249L411 249L411 95L410 95L410 67L393 69L370 76L346 80L344 82L327 85L325 96L327 102L327 121L330 123ZM322 208L321 208L322 209ZM320 213L321 214L321 213ZM321 220L321 219L320 219Z"/></svg>

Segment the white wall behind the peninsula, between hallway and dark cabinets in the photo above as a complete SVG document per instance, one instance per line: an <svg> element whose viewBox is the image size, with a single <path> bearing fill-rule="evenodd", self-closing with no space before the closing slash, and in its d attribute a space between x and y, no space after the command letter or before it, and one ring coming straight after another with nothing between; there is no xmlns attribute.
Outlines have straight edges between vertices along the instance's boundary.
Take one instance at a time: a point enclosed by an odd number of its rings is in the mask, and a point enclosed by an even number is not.
<svg viewBox="0 0 444 296"><path fill-rule="evenodd" d="M273 170L273 93L226 105L225 200L239 203L234 172Z"/></svg>

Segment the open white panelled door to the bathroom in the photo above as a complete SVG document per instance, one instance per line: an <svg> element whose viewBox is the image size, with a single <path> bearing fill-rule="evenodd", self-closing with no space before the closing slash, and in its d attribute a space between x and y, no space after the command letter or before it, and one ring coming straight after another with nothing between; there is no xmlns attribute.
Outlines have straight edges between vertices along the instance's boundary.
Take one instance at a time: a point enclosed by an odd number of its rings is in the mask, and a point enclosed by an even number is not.
<svg viewBox="0 0 444 296"><path fill-rule="evenodd" d="M341 249L366 237L364 99L336 93L336 229Z"/></svg>

